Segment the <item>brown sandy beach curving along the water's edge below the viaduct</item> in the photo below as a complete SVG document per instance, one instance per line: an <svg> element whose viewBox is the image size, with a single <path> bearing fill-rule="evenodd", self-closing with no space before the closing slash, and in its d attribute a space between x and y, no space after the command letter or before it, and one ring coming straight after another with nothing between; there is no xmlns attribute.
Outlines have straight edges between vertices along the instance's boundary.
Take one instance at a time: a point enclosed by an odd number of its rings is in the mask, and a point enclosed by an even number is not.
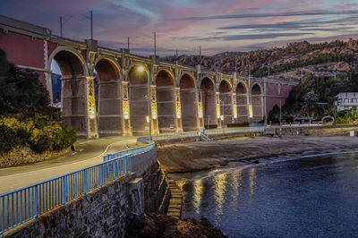
<svg viewBox="0 0 358 238"><path fill-rule="evenodd" d="M243 137L172 144L158 147L158 160L170 178L181 180L227 168L345 151L358 151L358 137Z"/></svg>

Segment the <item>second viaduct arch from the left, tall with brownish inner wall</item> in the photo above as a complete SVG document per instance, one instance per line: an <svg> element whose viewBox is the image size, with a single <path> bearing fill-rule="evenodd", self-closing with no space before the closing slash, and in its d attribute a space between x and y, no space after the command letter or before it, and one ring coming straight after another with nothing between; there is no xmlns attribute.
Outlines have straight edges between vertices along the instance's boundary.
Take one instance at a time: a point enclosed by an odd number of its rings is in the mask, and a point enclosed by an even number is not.
<svg viewBox="0 0 358 238"><path fill-rule="evenodd" d="M95 61L98 86L98 132L114 134L123 131L122 126L122 82L119 65L114 59L98 57ZM96 88L95 88L96 89Z"/></svg>

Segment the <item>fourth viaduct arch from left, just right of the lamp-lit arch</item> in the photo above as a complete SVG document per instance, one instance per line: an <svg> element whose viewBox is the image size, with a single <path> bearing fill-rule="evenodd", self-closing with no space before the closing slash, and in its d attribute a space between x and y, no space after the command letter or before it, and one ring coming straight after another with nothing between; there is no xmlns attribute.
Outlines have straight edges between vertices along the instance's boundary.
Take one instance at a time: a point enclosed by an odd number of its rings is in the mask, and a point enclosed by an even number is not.
<svg viewBox="0 0 358 238"><path fill-rule="evenodd" d="M159 132L175 132L175 79L166 69L156 75Z"/></svg>

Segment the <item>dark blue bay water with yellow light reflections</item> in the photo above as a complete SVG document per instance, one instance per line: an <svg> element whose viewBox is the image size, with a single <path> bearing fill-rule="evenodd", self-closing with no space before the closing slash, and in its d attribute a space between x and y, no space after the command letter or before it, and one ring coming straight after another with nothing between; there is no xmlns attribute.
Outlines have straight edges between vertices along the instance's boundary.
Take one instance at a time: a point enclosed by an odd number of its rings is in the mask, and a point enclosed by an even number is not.
<svg viewBox="0 0 358 238"><path fill-rule="evenodd" d="M358 156L310 157L182 182L183 217L229 237L358 237Z"/></svg>

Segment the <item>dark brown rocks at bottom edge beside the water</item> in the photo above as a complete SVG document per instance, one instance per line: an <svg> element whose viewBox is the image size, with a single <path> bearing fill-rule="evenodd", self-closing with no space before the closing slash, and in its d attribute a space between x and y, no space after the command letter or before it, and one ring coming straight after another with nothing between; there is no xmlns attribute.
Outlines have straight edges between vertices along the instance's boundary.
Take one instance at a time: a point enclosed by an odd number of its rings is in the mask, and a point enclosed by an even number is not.
<svg viewBox="0 0 358 238"><path fill-rule="evenodd" d="M131 224L128 237L227 237L205 217L177 219L149 213Z"/></svg>

